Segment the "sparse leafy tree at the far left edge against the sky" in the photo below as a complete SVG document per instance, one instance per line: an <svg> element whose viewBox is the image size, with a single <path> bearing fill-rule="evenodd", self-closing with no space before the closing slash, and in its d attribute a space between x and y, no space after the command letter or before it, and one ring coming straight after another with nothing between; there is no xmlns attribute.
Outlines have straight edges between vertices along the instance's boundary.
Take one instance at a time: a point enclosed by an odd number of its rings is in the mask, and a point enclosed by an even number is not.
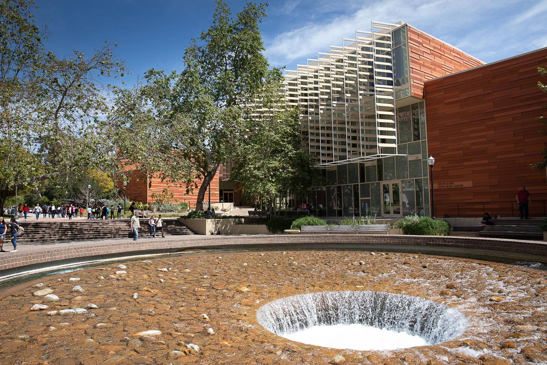
<svg viewBox="0 0 547 365"><path fill-rule="evenodd" d="M46 52L48 33L34 24L32 8L32 1L0 2L0 208L15 188L39 196L46 183L67 185L101 163L94 127L106 112L107 79L124 71L108 42L91 56Z"/></svg>

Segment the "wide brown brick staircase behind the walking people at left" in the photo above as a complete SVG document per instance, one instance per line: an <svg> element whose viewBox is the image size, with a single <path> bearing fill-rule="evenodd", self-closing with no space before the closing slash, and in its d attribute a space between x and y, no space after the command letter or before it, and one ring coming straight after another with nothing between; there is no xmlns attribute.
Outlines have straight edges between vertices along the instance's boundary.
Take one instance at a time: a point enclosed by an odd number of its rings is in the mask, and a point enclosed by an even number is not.
<svg viewBox="0 0 547 365"><path fill-rule="evenodd" d="M149 236L148 219L140 219L139 236ZM48 222L47 219L36 222L20 222L25 229L18 243L50 242L50 241L86 241L106 240L113 238L127 238L129 233L129 219L91 219L82 221ZM166 236L194 234L194 231L177 221L176 218L164 218ZM9 230L4 242L11 238Z"/></svg>

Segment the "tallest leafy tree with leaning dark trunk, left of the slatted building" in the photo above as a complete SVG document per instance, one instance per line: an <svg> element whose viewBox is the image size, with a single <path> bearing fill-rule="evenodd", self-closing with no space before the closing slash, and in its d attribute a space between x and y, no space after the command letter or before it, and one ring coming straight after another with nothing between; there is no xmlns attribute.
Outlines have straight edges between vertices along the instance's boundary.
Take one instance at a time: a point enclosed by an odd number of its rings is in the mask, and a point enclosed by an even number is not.
<svg viewBox="0 0 547 365"><path fill-rule="evenodd" d="M150 109L153 115L143 118L148 123L155 123L161 130L177 124L175 135L162 137L171 144L171 153L189 165L181 164L178 166L181 170L172 170L171 176L162 178L176 182L177 177L183 177L190 188L191 178L199 179L198 211L202 209L210 179L230 157L234 142L242 138L244 109L263 88L268 73L259 31L259 24L266 16L265 7L262 3L247 3L232 17L228 5L217 0L211 27L192 39L185 49L183 71L167 74L150 69L145 75L146 83L133 94L138 96L136 105L141 106L137 109L153 106ZM124 113L123 108L119 113ZM143 141L143 146L148 145ZM119 146L113 148L124 150ZM165 150L162 153L167 154ZM158 166L144 163L146 158L147 154L133 153L120 155L119 160L146 167L148 175L161 174ZM184 175L182 169L191 175Z"/></svg>

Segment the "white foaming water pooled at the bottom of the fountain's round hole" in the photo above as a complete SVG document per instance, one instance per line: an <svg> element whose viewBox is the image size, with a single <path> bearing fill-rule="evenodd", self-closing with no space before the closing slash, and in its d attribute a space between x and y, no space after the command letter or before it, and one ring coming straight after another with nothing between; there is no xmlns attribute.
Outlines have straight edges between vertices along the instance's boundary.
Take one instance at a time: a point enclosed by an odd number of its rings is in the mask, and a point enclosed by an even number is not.
<svg viewBox="0 0 547 365"><path fill-rule="evenodd" d="M359 351L406 349L428 343L418 335L359 324L313 326L285 334L284 338L308 345Z"/></svg>

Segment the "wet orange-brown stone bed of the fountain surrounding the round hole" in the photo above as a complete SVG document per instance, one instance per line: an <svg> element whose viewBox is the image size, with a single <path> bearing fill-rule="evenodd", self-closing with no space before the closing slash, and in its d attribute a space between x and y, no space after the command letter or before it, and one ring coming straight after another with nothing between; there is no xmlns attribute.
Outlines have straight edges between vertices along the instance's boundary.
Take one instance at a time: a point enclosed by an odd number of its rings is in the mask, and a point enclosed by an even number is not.
<svg viewBox="0 0 547 365"><path fill-rule="evenodd" d="M409 253L287 251L154 258L19 286L0 300L1 364L547 363L547 276ZM459 337L400 350L329 349L267 331L257 311L325 291L433 300Z"/></svg>

